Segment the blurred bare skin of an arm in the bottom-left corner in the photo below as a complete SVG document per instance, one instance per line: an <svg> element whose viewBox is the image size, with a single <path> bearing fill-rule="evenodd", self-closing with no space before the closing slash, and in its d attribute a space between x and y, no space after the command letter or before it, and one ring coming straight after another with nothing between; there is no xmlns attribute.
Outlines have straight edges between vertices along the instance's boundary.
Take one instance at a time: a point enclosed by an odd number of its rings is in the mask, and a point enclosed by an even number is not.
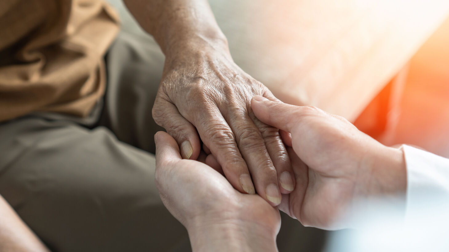
<svg viewBox="0 0 449 252"><path fill-rule="evenodd" d="M0 196L0 251L49 251L2 196Z"/></svg>

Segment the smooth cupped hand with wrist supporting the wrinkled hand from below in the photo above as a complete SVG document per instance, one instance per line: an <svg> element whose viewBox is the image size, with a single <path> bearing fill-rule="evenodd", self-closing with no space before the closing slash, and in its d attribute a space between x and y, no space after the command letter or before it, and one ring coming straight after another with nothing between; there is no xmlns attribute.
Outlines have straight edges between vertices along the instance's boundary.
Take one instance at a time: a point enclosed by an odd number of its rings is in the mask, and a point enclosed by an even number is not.
<svg viewBox="0 0 449 252"><path fill-rule="evenodd" d="M158 132L155 180L163 204L188 230L193 251L276 251L279 211L236 191L216 170L180 156Z"/></svg>

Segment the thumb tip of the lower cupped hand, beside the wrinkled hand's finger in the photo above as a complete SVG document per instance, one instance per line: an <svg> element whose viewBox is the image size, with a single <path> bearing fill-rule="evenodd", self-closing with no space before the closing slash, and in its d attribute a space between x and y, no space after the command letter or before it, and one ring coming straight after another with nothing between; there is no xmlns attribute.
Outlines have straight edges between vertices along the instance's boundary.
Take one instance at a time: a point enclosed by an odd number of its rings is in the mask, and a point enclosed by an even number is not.
<svg viewBox="0 0 449 252"><path fill-rule="evenodd" d="M156 143L156 169L165 162L182 159L179 153L178 143L176 143L171 135L163 131L158 131L154 135L154 142Z"/></svg>

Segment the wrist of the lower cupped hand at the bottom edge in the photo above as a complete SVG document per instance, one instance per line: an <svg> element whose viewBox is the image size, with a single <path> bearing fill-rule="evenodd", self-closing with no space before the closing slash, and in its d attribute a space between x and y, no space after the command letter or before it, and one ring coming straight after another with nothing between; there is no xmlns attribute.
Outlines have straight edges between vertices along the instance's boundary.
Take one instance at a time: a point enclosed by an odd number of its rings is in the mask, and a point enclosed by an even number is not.
<svg viewBox="0 0 449 252"><path fill-rule="evenodd" d="M277 231L234 220L194 220L187 226L190 243L198 251L277 251Z"/></svg>

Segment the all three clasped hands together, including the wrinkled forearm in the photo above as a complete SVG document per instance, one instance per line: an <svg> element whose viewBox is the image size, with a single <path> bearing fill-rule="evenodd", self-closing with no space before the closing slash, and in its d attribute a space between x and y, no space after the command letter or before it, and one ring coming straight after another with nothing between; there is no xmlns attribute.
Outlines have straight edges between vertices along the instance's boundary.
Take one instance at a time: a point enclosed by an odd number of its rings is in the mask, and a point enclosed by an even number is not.
<svg viewBox="0 0 449 252"><path fill-rule="evenodd" d="M204 238L194 247L220 237L224 248L274 244L273 206L304 225L338 228L356 196L405 190L400 150L343 118L280 103L240 69L207 0L124 2L166 56L152 110L168 133L155 136L156 182L191 239Z"/></svg>

